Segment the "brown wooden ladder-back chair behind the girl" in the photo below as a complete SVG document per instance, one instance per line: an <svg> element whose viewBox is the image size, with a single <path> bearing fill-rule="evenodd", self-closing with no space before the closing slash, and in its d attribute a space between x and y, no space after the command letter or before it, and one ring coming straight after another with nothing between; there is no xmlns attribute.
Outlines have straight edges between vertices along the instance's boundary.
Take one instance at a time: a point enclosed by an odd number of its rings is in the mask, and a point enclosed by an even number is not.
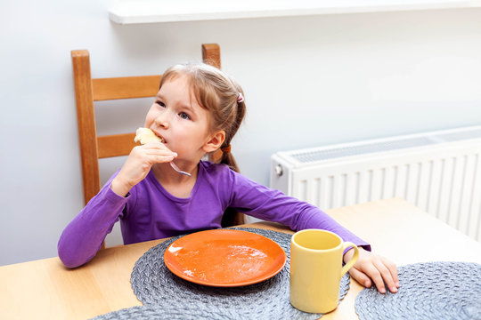
<svg viewBox="0 0 481 320"><path fill-rule="evenodd" d="M161 75L95 78L90 73L90 56L86 50L71 52L75 94L77 99L78 137L82 159L84 199L88 201L101 188L99 159L127 156L135 147L135 133L97 136L94 101L154 97L159 92ZM221 67L218 44L202 44L202 60L216 68ZM230 219L243 222L243 214L236 212ZM224 221L224 220L223 220ZM233 225L232 223L228 223ZM224 222L223 222L224 225ZM228 227L224 225L224 227Z"/></svg>

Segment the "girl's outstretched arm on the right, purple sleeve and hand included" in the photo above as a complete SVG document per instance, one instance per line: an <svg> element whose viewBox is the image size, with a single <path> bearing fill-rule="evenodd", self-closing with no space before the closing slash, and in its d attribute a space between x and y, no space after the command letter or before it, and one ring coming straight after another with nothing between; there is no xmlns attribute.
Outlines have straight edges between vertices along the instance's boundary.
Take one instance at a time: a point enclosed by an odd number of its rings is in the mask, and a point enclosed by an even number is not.
<svg viewBox="0 0 481 320"><path fill-rule="evenodd" d="M359 259L349 270L349 275L366 287L374 283L381 293L397 292L399 280L395 264L386 258L371 252L371 245L352 232L342 227L327 213L312 204L285 196L281 191L262 185L232 172L232 206L262 220L281 222L293 230L305 228L322 228L332 231L344 241L359 246ZM353 251L347 251L344 260L350 260Z"/></svg>

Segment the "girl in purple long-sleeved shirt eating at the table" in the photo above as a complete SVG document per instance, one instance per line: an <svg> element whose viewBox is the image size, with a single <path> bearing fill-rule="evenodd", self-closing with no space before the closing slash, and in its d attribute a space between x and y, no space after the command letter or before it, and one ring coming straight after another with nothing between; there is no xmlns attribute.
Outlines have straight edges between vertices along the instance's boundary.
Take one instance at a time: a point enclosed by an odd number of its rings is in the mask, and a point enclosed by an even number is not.
<svg viewBox="0 0 481 320"><path fill-rule="evenodd" d="M221 228L229 208L293 230L322 228L359 248L350 275L379 292L399 287L395 265L311 204L265 188L238 173L231 140L245 115L240 85L205 64L167 69L144 126L163 142L132 149L122 168L63 230L61 261L75 268L91 260L120 220L125 244ZM202 160L222 150L219 164ZM170 162L192 176L175 172ZM345 260L353 251L346 252Z"/></svg>

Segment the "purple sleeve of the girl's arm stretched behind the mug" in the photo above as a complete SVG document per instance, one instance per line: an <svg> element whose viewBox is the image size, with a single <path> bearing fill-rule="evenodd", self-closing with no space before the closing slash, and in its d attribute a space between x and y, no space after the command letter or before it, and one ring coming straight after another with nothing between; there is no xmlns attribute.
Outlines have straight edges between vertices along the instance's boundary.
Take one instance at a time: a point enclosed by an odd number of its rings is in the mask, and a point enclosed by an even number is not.
<svg viewBox="0 0 481 320"><path fill-rule="evenodd" d="M295 231L306 228L328 230L344 241L363 246L363 249L371 251L371 244L355 236L313 204L286 196L279 190L266 188L240 173L231 171L230 174L232 180L230 205L236 210L261 220L280 222Z"/></svg>

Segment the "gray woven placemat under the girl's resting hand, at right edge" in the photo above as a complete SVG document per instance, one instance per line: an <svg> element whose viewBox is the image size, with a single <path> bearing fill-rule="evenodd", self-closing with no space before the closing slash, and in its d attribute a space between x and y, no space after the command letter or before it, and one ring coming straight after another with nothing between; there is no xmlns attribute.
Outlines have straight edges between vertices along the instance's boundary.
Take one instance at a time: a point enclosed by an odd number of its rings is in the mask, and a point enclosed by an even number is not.
<svg viewBox="0 0 481 320"><path fill-rule="evenodd" d="M427 262L398 268L397 293L365 288L355 299L361 320L481 319L481 265Z"/></svg>

